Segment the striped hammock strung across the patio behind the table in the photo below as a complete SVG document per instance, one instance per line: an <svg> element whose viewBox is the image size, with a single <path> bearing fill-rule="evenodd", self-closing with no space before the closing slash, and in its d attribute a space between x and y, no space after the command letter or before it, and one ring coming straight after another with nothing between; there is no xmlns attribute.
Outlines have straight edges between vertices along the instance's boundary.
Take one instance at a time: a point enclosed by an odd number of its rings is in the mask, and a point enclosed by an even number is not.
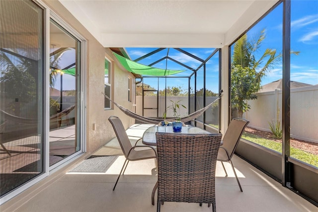
<svg viewBox="0 0 318 212"><path fill-rule="evenodd" d="M137 120L140 120L140 121L143 121L145 123L149 123L149 124L158 124L160 121L175 121L175 119L157 119L157 118L150 118L150 117L145 117L145 116L142 116L142 115L139 115L133 111L130 111L129 109L126 109L125 107L115 103L113 100L111 100L109 97L107 97L103 92L102 94L109 100L111 101L112 103L114 103L115 106L117 106L121 111L123 111L126 115L132 117L132 118L135 118ZM212 103L210 103L209 105L191 113L191 114L188 114L186 116L183 116L180 121L181 122L188 122L190 120L193 120L197 117L199 117L200 115L203 114L203 112L205 110L207 110L211 105L213 105L216 101L220 100L223 96L223 93L221 92L221 95L219 96L218 99L216 99L215 101L213 101Z"/></svg>

